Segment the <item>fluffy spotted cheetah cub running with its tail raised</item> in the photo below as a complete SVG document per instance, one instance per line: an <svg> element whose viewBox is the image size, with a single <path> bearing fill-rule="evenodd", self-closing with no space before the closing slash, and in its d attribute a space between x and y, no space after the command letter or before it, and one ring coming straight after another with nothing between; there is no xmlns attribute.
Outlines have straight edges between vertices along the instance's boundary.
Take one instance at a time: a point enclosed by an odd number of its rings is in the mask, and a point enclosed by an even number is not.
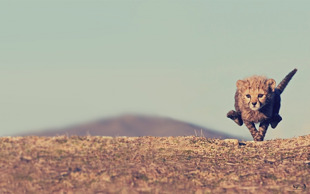
<svg viewBox="0 0 310 194"><path fill-rule="evenodd" d="M279 115L280 94L296 72L297 69L294 69L286 75L277 88L276 81L266 76L253 75L244 80L239 79L236 83L236 111L229 111L227 117L239 126L244 123L254 141L263 141L269 124L274 129L282 120ZM259 130L255 128L255 123L259 123Z"/></svg>

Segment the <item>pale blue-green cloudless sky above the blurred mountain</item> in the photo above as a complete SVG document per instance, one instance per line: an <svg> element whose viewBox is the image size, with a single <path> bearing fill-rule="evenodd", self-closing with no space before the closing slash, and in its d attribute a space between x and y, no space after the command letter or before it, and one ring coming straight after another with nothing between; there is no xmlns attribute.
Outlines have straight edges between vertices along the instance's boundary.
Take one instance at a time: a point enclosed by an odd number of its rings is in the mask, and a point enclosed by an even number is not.
<svg viewBox="0 0 310 194"><path fill-rule="evenodd" d="M0 136L138 113L250 139L236 81L282 94L265 139L310 133L310 1L1 1Z"/></svg>

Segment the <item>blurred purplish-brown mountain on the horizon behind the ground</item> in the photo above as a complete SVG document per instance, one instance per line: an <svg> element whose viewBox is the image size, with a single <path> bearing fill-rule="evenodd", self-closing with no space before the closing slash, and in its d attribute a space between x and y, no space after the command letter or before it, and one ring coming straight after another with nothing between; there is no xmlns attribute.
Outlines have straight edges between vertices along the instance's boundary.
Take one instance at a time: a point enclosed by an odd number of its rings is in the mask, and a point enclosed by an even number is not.
<svg viewBox="0 0 310 194"><path fill-rule="evenodd" d="M122 115L119 117L96 120L85 124L78 124L69 126L63 129L49 129L40 132L25 133L22 136L36 135L36 136L55 136L55 135L78 135L86 134L92 136L189 136L202 134L206 138L235 138L226 133L216 132L206 129L194 124L173 120L158 116L141 116L141 115Z"/></svg>

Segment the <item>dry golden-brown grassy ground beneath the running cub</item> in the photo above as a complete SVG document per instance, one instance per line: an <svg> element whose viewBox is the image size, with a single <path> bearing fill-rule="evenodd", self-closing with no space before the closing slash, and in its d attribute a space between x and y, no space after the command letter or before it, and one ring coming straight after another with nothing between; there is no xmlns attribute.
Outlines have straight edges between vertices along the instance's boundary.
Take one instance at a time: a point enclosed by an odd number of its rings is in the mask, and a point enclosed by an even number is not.
<svg viewBox="0 0 310 194"><path fill-rule="evenodd" d="M309 193L309 160L310 135L3 137L0 193Z"/></svg>

